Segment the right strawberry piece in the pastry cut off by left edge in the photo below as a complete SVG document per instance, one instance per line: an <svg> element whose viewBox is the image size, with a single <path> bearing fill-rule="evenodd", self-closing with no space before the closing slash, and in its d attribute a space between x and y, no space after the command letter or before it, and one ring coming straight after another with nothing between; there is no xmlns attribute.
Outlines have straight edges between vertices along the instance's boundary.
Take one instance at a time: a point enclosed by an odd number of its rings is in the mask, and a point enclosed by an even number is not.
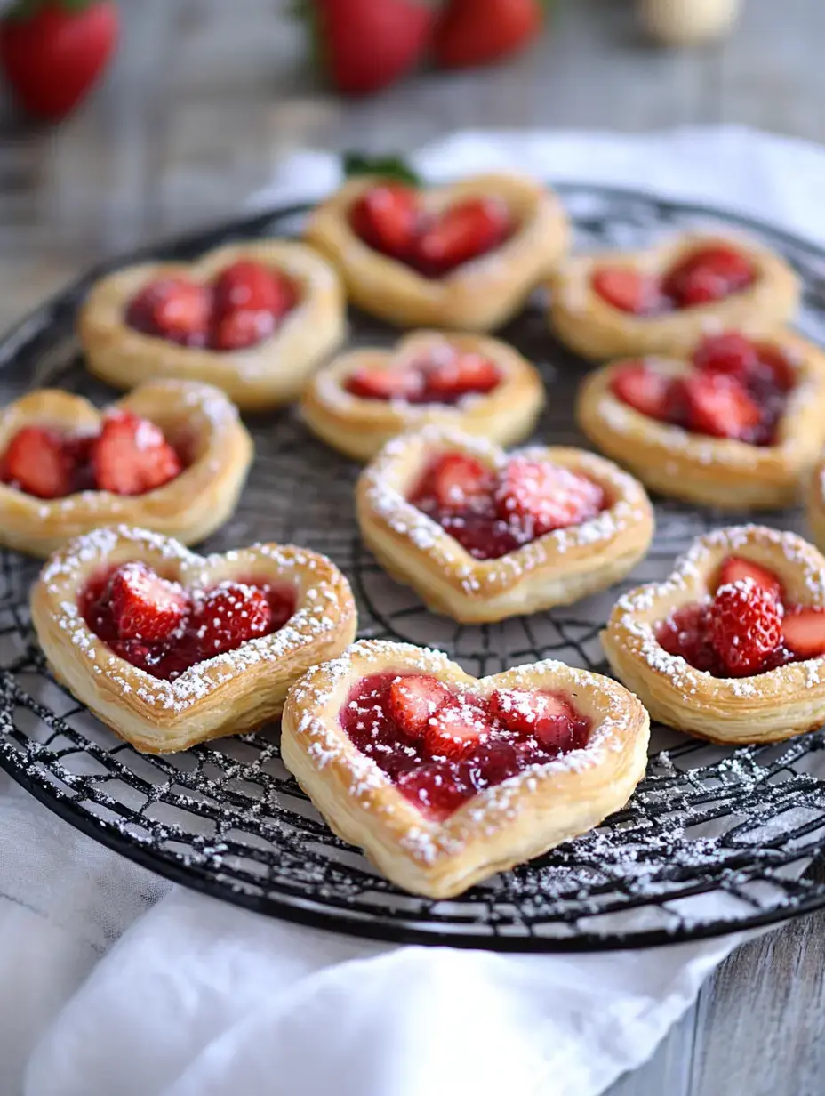
<svg viewBox="0 0 825 1096"><path fill-rule="evenodd" d="M92 468L98 488L114 494L145 494L182 471L160 427L127 411L105 419L92 448Z"/></svg>

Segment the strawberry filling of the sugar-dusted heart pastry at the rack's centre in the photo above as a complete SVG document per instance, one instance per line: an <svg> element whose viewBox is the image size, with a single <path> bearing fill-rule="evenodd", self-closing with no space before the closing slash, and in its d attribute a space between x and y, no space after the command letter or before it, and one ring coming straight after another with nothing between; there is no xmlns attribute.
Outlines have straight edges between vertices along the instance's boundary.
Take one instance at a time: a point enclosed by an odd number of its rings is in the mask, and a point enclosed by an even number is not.
<svg viewBox="0 0 825 1096"><path fill-rule="evenodd" d="M558 465L513 457L493 472L461 453L436 457L410 502L475 559L499 559L609 505L598 483Z"/></svg>

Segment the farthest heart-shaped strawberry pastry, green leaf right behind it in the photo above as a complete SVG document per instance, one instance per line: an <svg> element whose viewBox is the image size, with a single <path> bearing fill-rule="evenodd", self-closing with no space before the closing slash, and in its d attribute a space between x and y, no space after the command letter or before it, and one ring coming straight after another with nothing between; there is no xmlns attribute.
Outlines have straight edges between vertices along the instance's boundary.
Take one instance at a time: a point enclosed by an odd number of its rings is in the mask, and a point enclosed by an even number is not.
<svg viewBox="0 0 825 1096"><path fill-rule="evenodd" d="M570 227L557 196L518 175L423 191L364 175L316 209L306 238L365 311L400 327L492 331L554 270Z"/></svg>

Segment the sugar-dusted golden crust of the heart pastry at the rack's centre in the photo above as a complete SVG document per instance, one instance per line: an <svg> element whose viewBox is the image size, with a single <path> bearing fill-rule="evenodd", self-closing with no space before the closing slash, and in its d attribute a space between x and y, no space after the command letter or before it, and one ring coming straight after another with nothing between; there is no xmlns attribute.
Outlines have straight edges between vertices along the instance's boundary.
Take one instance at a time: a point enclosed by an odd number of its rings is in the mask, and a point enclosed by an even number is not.
<svg viewBox="0 0 825 1096"><path fill-rule="evenodd" d="M426 464L444 450L470 454L491 468L508 459L497 446L466 434L435 427L403 434L362 472L356 505L364 541L381 567L454 620L503 620L570 605L623 578L650 546L653 511L640 483L582 449L531 446L517 452L588 476L605 489L611 505L501 559L473 559L406 501Z"/></svg>

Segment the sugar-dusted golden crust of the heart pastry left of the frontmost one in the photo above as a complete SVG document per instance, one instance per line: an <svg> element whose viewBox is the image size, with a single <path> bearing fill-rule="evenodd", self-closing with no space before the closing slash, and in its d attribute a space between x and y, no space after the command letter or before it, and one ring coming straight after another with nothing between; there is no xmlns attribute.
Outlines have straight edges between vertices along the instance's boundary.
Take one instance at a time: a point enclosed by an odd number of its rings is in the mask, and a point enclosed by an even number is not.
<svg viewBox="0 0 825 1096"><path fill-rule="evenodd" d="M115 654L77 607L93 575L131 560L184 586L250 575L294 583L296 612L273 635L161 681ZM173 753L278 716L290 685L352 642L357 618L346 579L317 552L253 545L196 556L167 537L117 526L79 537L51 557L32 592L32 623L55 676L78 700L137 750Z"/></svg>

